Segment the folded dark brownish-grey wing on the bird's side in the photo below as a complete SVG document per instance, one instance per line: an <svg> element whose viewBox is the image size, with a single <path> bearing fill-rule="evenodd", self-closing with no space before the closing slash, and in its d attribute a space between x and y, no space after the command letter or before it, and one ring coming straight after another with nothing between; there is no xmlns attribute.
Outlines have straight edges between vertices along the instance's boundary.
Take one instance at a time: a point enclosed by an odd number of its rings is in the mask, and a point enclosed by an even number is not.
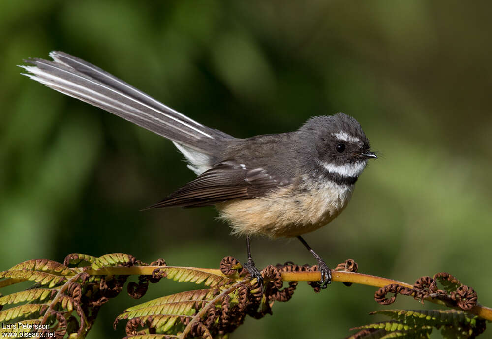
<svg viewBox="0 0 492 339"><path fill-rule="evenodd" d="M287 182L264 168L224 161L146 209L210 206L228 200L257 198Z"/></svg>

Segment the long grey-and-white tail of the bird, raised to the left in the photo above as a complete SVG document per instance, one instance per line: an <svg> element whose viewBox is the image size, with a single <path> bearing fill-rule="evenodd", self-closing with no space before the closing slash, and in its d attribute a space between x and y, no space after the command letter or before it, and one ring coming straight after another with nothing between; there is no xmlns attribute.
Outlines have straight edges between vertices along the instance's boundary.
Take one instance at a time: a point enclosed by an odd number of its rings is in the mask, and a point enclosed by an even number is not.
<svg viewBox="0 0 492 339"><path fill-rule="evenodd" d="M33 66L20 66L29 72L24 75L200 153L212 155L214 146L224 138L232 138L173 110L91 63L63 52L51 52L50 56L54 61L26 60Z"/></svg>

